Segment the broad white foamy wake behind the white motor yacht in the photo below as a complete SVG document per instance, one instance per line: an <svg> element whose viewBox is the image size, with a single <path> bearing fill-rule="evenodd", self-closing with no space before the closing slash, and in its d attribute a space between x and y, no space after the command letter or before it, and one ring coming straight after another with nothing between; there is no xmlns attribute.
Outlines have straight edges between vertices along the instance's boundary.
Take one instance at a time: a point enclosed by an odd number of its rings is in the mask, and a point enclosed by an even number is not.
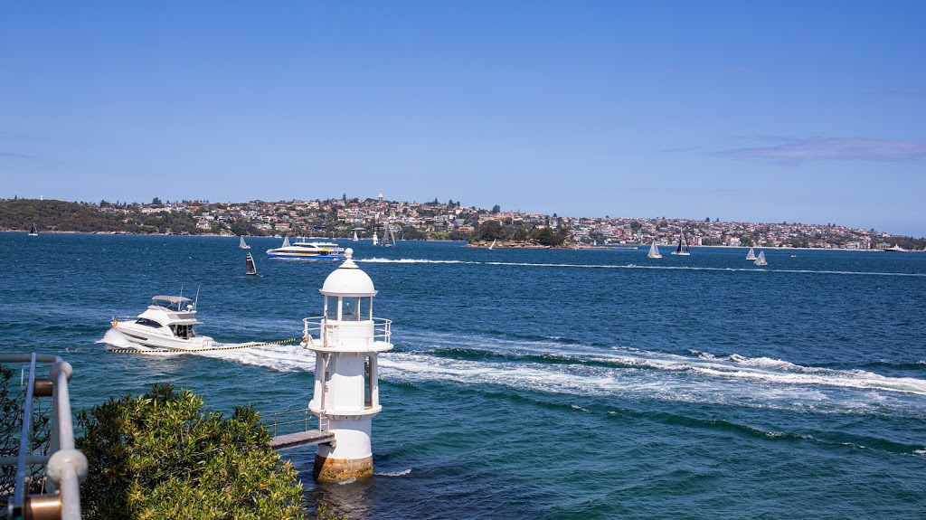
<svg viewBox="0 0 926 520"><path fill-rule="evenodd" d="M108 335L108 333L107 333ZM99 342L109 342L104 338ZM408 334L411 347L380 356L381 377L394 383L427 381L498 385L631 400L704 402L770 407L807 413L882 413L898 408L926 414L926 380L891 378L870 371L803 366L738 354L687 355L628 347L563 345L556 340L459 338ZM117 348L124 344L116 342ZM407 343L408 344L408 343ZM227 346L227 345L224 345ZM298 345L260 345L240 350L194 352L214 359L280 372L315 369L315 355ZM897 413L895 410L893 413Z"/></svg>

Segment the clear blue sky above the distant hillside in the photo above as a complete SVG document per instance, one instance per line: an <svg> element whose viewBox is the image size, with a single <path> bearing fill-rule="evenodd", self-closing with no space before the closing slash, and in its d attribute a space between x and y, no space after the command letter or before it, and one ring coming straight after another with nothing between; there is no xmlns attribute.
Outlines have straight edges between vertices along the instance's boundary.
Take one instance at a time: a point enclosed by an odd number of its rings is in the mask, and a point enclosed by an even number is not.
<svg viewBox="0 0 926 520"><path fill-rule="evenodd" d="M0 197L926 235L926 2L0 3Z"/></svg>

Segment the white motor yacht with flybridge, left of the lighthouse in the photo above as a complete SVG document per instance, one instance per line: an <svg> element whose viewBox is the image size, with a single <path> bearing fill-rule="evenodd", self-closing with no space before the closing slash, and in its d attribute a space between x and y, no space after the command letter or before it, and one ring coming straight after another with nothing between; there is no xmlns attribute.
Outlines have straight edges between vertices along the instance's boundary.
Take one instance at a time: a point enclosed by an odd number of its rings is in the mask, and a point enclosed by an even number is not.
<svg viewBox="0 0 926 520"><path fill-rule="evenodd" d="M113 318L113 329L139 350L171 349L177 351L206 349L212 338L194 331L199 325L196 303L185 296L155 296L138 317Z"/></svg>

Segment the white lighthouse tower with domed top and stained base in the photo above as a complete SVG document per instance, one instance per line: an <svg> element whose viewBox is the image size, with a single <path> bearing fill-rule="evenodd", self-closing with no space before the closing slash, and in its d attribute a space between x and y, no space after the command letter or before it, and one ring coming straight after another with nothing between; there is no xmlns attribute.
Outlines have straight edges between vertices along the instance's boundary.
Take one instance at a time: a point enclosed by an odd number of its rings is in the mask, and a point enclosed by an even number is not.
<svg viewBox="0 0 926 520"><path fill-rule="evenodd" d="M324 314L307 317L303 345L315 351L315 390L308 408L333 442L319 444L313 475L322 482L373 474L370 426L382 410L376 356L392 350L392 321L373 317L373 280L346 260L325 279Z"/></svg>

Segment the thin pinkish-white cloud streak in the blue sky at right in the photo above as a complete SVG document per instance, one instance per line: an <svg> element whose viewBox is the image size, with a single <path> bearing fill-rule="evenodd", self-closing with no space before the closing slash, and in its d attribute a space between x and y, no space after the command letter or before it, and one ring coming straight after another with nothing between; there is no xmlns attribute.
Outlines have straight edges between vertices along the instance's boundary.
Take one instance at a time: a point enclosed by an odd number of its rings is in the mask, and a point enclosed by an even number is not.
<svg viewBox="0 0 926 520"><path fill-rule="evenodd" d="M783 166L806 161L912 161L926 157L926 142L815 138L776 146L733 148L718 155L765 159Z"/></svg>

